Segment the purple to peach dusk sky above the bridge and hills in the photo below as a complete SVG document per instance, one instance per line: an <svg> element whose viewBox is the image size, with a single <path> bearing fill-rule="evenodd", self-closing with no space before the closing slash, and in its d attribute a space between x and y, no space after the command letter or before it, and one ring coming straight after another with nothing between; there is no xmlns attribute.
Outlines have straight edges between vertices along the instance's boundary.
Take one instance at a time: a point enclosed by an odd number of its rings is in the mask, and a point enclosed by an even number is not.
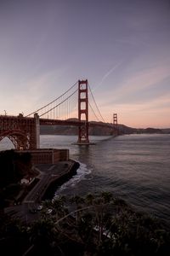
<svg viewBox="0 0 170 256"><path fill-rule="evenodd" d="M0 114L88 79L106 122L170 127L170 0L0 0Z"/></svg>

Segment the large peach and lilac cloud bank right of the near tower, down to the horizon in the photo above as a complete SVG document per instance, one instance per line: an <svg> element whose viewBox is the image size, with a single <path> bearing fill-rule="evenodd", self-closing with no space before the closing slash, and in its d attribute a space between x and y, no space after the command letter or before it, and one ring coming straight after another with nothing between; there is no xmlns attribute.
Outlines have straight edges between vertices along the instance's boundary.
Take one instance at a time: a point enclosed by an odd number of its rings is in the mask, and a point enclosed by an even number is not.
<svg viewBox="0 0 170 256"><path fill-rule="evenodd" d="M123 81L100 99L105 119L110 121L112 113L118 113L125 125L170 126L169 70L168 65L157 65L127 73L126 79L123 74Z"/></svg>

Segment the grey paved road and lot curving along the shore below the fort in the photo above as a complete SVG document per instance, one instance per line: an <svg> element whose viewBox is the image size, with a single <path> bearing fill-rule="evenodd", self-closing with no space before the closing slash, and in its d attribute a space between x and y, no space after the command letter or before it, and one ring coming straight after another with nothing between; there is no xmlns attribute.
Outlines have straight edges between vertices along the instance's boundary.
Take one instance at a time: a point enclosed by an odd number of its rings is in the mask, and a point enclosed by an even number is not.
<svg viewBox="0 0 170 256"><path fill-rule="evenodd" d="M20 218L23 221L31 222L37 218L39 212L37 212L37 206L41 203L42 197L47 191L49 185L54 181L59 180L61 177L65 177L67 174L71 174L71 171L77 169L75 166L77 163L74 160L60 161L54 165L38 165L35 166L39 175L37 178L39 181L26 195L25 199L20 205L7 207L4 212L9 216ZM33 214L34 213L34 214Z"/></svg>

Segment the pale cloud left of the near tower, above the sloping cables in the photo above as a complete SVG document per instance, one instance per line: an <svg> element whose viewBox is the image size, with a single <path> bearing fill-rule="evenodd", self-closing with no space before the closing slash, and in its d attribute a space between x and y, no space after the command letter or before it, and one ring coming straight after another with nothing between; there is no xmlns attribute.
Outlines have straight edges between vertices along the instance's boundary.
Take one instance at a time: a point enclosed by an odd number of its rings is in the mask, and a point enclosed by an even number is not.
<svg viewBox="0 0 170 256"><path fill-rule="evenodd" d="M20 84L14 85L14 88L8 91L8 97L3 101L1 108L6 109L8 114L24 112L25 115L41 108L60 95L59 90L63 88L57 84L62 73L63 70L54 69L20 80Z"/></svg>

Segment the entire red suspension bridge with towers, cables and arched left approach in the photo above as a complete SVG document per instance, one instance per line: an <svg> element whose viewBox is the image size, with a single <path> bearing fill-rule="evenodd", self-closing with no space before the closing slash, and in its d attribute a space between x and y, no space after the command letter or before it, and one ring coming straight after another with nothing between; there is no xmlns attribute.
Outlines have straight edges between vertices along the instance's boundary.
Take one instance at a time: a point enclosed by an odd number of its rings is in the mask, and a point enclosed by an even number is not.
<svg viewBox="0 0 170 256"><path fill-rule="evenodd" d="M94 118L98 122L89 121ZM21 113L18 116L0 115L0 141L4 137L8 137L16 149L39 148L40 125L77 126L77 144L80 145L90 144L89 126L108 126L112 129L113 134L117 134L118 131L117 114L113 114L113 124L105 123L94 100L88 80L78 80L53 102L49 102L26 116Z"/></svg>

